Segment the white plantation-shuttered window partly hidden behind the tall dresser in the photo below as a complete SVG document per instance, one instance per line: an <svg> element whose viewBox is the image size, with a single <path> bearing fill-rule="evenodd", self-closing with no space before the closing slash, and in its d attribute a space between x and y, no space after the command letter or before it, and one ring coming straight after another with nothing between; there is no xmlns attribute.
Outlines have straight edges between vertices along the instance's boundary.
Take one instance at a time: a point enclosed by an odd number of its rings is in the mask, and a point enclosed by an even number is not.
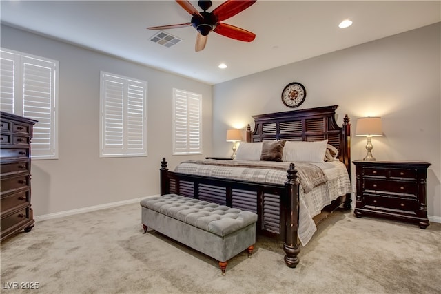
<svg viewBox="0 0 441 294"><path fill-rule="evenodd" d="M58 61L1 48L0 106L38 120L32 158L58 158Z"/></svg>

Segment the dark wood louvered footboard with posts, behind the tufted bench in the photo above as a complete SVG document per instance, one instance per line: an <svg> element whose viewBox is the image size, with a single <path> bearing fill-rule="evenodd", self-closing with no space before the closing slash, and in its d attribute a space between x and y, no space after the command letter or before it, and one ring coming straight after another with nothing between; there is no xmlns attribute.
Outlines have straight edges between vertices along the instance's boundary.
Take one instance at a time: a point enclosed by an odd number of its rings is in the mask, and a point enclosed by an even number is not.
<svg viewBox="0 0 441 294"><path fill-rule="evenodd" d="M287 170L285 185L179 174L168 170L165 158L161 161L160 178L161 195L176 193L256 213L257 233L283 240L285 263L297 266L300 182L294 163Z"/></svg>

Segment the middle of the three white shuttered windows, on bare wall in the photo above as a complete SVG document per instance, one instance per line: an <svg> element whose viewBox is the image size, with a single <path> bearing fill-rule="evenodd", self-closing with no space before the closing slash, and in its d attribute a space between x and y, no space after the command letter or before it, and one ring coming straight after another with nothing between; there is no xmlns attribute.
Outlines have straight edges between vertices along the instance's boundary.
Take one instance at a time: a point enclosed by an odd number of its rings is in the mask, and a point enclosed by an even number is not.
<svg viewBox="0 0 441 294"><path fill-rule="evenodd" d="M100 157L147 156L147 82L101 72Z"/></svg>

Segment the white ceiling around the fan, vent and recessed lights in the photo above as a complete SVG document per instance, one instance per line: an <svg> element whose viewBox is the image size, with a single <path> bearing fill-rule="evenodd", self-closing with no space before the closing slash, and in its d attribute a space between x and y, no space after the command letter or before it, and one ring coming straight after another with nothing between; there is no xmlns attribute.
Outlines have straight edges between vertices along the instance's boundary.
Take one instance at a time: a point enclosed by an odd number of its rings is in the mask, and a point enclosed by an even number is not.
<svg viewBox="0 0 441 294"><path fill-rule="evenodd" d="M191 19L174 1L5 1L1 23L120 56L208 84L293 63L441 21L441 1L262 1L223 21L256 34L251 43L211 32L194 52L196 30L167 30L171 48L148 26ZM190 1L198 8L197 1ZM213 1L208 11L223 3ZM353 25L338 28L343 19ZM227 69L218 69L226 63Z"/></svg>

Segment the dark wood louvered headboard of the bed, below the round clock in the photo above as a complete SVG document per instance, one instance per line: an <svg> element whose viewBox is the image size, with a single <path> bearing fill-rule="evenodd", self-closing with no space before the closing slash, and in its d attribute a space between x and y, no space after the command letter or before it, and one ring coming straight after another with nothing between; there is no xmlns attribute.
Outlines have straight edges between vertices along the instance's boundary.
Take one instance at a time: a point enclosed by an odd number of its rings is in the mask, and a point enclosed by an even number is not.
<svg viewBox="0 0 441 294"><path fill-rule="evenodd" d="M251 126L248 125L247 142L328 139L328 143L338 149L338 158L345 163L351 175L351 124L346 114L342 127L337 125L337 107L338 105L332 105L252 116L254 131L252 132Z"/></svg>

